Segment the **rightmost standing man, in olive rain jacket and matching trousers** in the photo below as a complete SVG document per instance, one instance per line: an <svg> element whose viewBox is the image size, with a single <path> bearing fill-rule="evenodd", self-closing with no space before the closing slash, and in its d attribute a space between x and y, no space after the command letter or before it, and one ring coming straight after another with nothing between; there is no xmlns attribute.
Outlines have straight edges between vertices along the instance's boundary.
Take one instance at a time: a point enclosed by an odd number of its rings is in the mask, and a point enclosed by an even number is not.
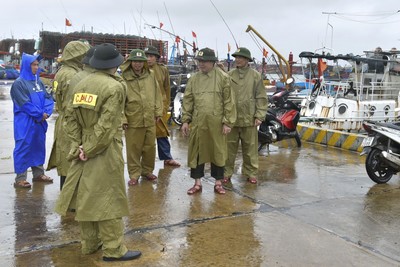
<svg viewBox="0 0 400 267"><path fill-rule="evenodd" d="M242 175L247 181L256 184L258 174L258 133L257 126L267 113L267 95L261 74L250 68L253 61L250 51L239 47L235 53L236 69L229 72L232 89L235 92L237 118L232 131L228 134L228 159L225 164L223 182L230 181L234 171L239 142L242 146Z"/></svg>

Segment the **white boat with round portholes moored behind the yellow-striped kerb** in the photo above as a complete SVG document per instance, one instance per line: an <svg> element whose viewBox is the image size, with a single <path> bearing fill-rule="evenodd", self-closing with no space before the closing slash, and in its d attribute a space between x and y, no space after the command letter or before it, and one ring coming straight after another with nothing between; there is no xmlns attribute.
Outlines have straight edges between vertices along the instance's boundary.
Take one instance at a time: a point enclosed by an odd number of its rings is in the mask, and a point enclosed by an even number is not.
<svg viewBox="0 0 400 267"><path fill-rule="evenodd" d="M352 66L347 77L325 79L319 74L301 102L302 124L346 132L362 131L365 120L392 122L400 110L398 51L365 51L333 56L302 52L302 59L344 60ZM321 68L321 67L320 67Z"/></svg>

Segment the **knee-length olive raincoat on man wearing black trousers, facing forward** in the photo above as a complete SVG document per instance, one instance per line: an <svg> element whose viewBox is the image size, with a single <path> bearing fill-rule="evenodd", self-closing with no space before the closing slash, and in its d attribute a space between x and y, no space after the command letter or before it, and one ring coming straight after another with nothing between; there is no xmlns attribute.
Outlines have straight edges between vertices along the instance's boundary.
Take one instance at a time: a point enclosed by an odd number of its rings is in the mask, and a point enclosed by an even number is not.
<svg viewBox="0 0 400 267"><path fill-rule="evenodd" d="M182 121L190 123L188 165L211 162L223 167L227 158L222 125L233 127L236 120L235 96L229 76L220 68L195 73L183 97Z"/></svg>

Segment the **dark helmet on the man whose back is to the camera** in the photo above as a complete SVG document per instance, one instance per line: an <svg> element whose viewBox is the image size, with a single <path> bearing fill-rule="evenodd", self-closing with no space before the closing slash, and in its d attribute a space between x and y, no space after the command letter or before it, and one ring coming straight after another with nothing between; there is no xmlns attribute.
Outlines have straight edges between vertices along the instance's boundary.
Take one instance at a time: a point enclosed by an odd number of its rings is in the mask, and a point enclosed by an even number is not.
<svg viewBox="0 0 400 267"><path fill-rule="evenodd" d="M89 60L90 66L101 70L118 67L122 62L124 57L113 44L108 43L97 45Z"/></svg>

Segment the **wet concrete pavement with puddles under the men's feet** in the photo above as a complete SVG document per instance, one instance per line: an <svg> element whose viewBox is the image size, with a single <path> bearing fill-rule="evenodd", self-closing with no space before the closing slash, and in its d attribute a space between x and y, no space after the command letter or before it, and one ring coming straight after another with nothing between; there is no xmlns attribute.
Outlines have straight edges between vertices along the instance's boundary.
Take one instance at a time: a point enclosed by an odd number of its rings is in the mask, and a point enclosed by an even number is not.
<svg viewBox="0 0 400 267"><path fill-rule="evenodd" d="M260 156L258 185L238 174L226 195L216 195L207 171L203 192L189 196L187 140L176 127L172 153L183 166L156 160L156 182L127 188L125 242L142 257L106 263L101 252L83 256L73 216L53 212L55 170L47 173L54 184L14 189L12 123L6 95L0 100L1 266L400 266L398 176L376 185L357 153L279 144ZM54 119L49 124L48 153Z"/></svg>

